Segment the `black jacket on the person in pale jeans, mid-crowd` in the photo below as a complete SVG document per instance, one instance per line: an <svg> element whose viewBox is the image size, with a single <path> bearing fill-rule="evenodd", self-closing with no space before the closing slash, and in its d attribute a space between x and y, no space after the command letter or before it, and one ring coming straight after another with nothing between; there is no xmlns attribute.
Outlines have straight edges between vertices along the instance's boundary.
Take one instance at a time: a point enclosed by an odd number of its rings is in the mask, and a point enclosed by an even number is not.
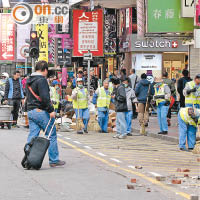
<svg viewBox="0 0 200 200"><path fill-rule="evenodd" d="M127 112L127 101L126 101L126 91L123 84L119 85L114 90L115 94L115 111L116 112Z"/></svg>

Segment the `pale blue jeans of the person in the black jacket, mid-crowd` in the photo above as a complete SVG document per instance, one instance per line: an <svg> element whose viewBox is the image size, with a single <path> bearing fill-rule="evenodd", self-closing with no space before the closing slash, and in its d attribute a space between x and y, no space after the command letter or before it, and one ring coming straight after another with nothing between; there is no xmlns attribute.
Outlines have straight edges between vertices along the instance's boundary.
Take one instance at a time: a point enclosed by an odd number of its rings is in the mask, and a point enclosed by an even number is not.
<svg viewBox="0 0 200 200"><path fill-rule="evenodd" d="M116 128L117 128L117 133L120 135L126 135L127 131L125 113L126 112L117 112Z"/></svg>

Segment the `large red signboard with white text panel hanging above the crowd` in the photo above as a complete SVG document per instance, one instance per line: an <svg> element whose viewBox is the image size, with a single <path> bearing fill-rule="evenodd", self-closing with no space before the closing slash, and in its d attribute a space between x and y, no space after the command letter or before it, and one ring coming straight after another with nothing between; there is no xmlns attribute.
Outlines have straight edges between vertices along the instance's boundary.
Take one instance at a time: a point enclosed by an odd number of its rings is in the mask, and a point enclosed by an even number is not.
<svg viewBox="0 0 200 200"><path fill-rule="evenodd" d="M82 57L88 50L103 56L103 10L73 11L74 56Z"/></svg>

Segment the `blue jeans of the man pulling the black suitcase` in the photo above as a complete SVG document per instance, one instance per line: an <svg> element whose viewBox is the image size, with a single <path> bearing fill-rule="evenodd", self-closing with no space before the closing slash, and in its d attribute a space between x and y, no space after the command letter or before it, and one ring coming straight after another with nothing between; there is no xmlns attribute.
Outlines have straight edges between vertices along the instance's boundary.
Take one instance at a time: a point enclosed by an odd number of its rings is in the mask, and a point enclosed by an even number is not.
<svg viewBox="0 0 200 200"><path fill-rule="evenodd" d="M34 109L28 112L29 119L29 130L30 133L28 135L27 142L30 143L32 138L38 137L40 134L40 130L45 130L50 116L49 113L43 110ZM51 120L49 127L47 129L46 135L48 135L55 119ZM54 126L53 131L50 136L50 145L48 149L49 153L49 163L57 163L59 161L59 152L58 152L58 144L57 144L57 135L56 135L56 127Z"/></svg>

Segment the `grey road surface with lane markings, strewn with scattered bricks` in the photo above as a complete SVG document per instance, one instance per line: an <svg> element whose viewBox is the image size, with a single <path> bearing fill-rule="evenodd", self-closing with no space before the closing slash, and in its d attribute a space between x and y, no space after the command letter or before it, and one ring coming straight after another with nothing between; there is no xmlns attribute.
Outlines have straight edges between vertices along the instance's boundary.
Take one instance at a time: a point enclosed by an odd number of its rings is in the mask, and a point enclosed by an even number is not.
<svg viewBox="0 0 200 200"><path fill-rule="evenodd" d="M113 134L58 133L60 158L67 164L50 168L46 156L41 170L28 171L20 165L27 134L24 128L0 130L2 200L181 200L199 192L199 156L179 152L174 143L138 134L118 140ZM156 181L157 176L166 180Z"/></svg>

